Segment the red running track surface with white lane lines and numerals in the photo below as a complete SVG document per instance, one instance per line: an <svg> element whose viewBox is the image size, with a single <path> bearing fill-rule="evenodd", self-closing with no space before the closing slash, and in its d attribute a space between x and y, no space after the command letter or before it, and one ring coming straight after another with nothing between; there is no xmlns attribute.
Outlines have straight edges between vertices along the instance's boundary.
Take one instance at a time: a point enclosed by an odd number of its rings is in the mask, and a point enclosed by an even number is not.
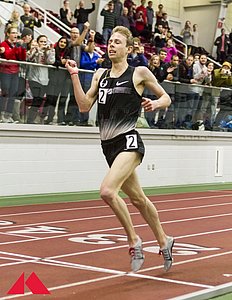
<svg viewBox="0 0 232 300"><path fill-rule="evenodd" d="M126 273L125 233L101 201L1 208L0 299L164 300L230 282L232 191L150 199L176 239L168 273L151 230L131 205L146 255L136 274ZM32 295L25 287L23 295L7 295L23 272L25 278L35 272L51 294Z"/></svg>

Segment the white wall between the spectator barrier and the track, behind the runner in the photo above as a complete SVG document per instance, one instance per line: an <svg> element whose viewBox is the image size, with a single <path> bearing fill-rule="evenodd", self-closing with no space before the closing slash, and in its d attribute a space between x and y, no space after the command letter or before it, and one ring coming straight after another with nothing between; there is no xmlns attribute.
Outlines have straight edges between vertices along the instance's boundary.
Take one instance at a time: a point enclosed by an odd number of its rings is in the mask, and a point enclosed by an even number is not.
<svg viewBox="0 0 232 300"><path fill-rule="evenodd" d="M231 133L139 131L142 186L231 182ZM98 128L1 124L0 196L98 190L106 172Z"/></svg>

